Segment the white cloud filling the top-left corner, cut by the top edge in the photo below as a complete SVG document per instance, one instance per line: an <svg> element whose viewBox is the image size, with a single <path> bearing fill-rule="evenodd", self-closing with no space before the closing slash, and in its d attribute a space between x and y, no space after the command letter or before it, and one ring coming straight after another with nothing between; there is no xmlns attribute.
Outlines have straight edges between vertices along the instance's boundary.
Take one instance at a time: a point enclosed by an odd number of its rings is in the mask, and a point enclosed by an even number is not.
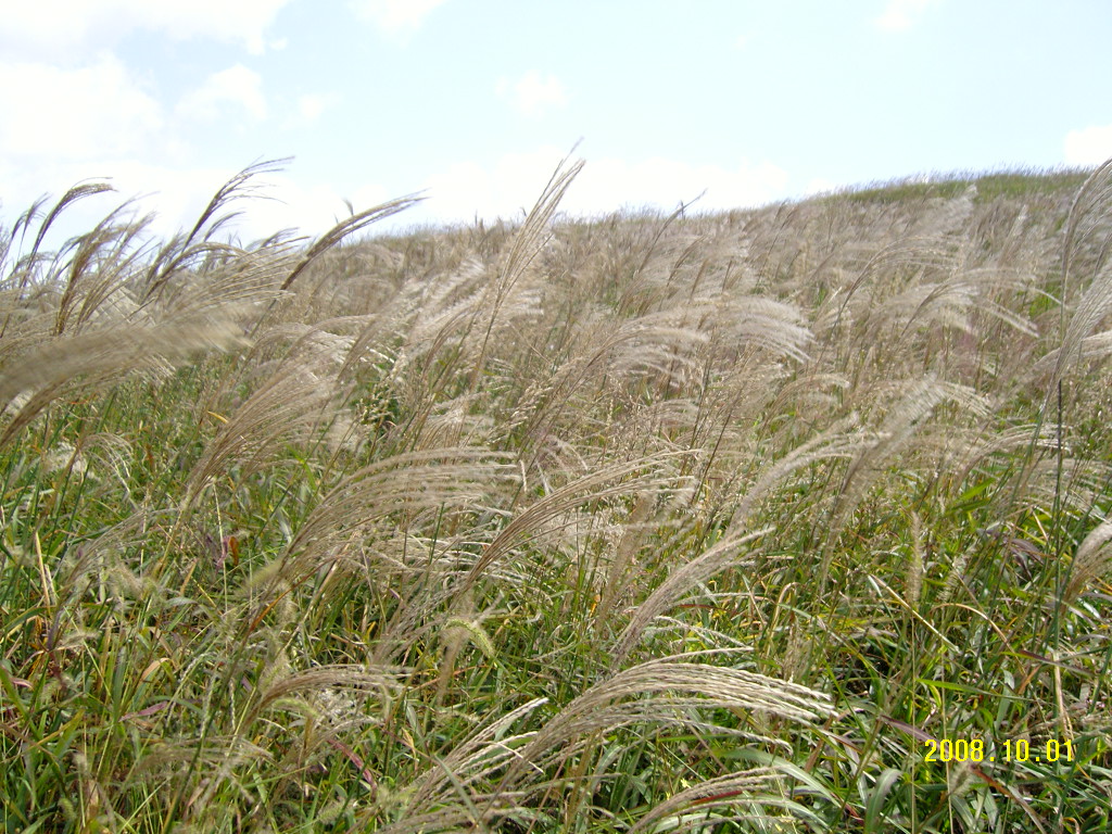
<svg viewBox="0 0 1112 834"><path fill-rule="evenodd" d="M87 57L135 30L215 38L264 52L267 30L290 0L0 0L0 51L13 58ZM280 44L274 44L280 46Z"/></svg>

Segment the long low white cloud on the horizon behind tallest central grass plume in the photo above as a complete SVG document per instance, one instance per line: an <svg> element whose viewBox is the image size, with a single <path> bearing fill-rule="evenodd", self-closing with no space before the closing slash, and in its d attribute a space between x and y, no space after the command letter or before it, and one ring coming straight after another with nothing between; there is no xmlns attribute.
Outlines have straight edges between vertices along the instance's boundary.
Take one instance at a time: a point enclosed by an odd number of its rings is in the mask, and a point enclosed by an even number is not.
<svg viewBox="0 0 1112 834"><path fill-rule="evenodd" d="M454 165L427 182L429 199L423 214L441 221L470 221L476 215L519 218L536 202L565 156L557 148L545 147L504 156L493 167ZM672 211L705 191L694 210L731 209L774 200L786 183L787 173L770 162L722 168L659 157L638 162L588 157L560 208L575 216L598 216L622 208Z"/></svg>

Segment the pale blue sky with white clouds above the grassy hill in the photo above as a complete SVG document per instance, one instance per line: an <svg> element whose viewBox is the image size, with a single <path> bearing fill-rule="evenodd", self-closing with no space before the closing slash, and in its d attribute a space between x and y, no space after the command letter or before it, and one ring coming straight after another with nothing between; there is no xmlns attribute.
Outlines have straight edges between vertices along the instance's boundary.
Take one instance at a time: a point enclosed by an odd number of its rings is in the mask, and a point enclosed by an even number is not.
<svg viewBox="0 0 1112 834"><path fill-rule="evenodd" d="M520 218L568 155L584 217L1095 166L1110 41L1109 0L0 0L0 225L96 180L75 234L171 235L287 157L242 239Z"/></svg>

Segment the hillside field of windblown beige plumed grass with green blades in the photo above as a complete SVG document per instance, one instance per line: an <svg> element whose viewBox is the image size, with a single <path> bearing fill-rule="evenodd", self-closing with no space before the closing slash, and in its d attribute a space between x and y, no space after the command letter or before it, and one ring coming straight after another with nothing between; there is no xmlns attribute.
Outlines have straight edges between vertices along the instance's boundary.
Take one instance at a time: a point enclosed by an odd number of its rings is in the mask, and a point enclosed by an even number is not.
<svg viewBox="0 0 1112 834"><path fill-rule="evenodd" d="M1112 165L228 242L261 168L3 229L6 831L1112 828Z"/></svg>

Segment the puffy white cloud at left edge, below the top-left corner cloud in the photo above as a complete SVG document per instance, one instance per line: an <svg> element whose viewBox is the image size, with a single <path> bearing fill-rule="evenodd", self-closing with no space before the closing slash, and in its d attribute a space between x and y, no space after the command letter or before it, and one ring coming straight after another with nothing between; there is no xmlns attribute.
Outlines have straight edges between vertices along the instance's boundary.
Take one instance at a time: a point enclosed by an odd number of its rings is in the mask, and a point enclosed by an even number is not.
<svg viewBox="0 0 1112 834"><path fill-rule="evenodd" d="M0 156L57 163L135 152L162 126L158 101L113 56L78 69L0 63Z"/></svg>

